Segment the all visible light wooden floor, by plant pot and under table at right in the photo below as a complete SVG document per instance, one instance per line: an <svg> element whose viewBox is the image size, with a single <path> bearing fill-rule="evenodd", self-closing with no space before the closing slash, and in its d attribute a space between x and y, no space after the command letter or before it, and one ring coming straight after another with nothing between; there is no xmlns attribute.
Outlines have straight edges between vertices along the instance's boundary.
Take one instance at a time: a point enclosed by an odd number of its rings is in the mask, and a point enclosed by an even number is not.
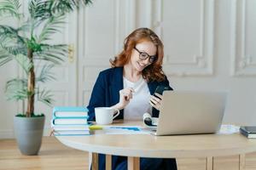
<svg viewBox="0 0 256 170"><path fill-rule="evenodd" d="M216 157L214 170L238 170L238 156ZM177 159L178 170L205 170L206 159ZM246 170L256 170L256 153L246 155ZM70 149L55 137L44 137L38 156L22 156L14 139L0 140L0 170L88 169L88 153Z"/></svg>

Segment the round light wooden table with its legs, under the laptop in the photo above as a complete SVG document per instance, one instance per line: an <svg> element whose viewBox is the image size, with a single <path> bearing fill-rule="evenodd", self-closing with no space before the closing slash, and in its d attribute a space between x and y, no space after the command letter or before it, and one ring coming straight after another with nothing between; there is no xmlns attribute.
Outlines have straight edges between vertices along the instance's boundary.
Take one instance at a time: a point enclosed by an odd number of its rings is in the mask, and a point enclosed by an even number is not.
<svg viewBox="0 0 256 170"><path fill-rule="evenodd" d="M140 122L129 122L129 125ZM118 124L118 125L127 125ZM99 132L99 133L98 133ZM240 155L240 169L246 153L256 151L256 140L240 133L154 136L151 134L104 134L97 131L89 136L58 136L62 144L93 153L93 167L97 168L97 153L107 155L107 169L111 156L128 156L128 167L139 168L139 157L207 157L207 170L212 169L213 156ZM110 164L110 165L109 165Z"/></svg>

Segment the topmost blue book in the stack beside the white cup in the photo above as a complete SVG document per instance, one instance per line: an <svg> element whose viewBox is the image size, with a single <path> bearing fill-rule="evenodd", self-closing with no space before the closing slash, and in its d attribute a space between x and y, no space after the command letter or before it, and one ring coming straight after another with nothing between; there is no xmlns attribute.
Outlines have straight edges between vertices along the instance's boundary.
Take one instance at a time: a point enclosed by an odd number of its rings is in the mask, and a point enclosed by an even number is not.
<svg viewBox="0 0 256 170"><path fill-rule="evenodd" d="M53 118L56 117L88 119L88 109L86 107L54 107Z"/></svg>

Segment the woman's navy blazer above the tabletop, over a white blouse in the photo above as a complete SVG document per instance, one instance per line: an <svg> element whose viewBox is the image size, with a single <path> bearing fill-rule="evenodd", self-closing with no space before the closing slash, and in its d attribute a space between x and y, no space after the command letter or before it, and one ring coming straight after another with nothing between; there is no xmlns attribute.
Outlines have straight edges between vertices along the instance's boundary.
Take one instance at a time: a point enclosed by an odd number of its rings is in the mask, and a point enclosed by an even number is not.
<svg viewBox="0 0 256 170"><path fill-rule="evenodd" d="M165 78L162 82L148 82L150 94L158 85L170 86L169 81ZM90 121L95 121L95 107L110 107L119 103L119 91L124 88L123 84L123 67L114 67L101 71L96 79L96 83L90 96L88 105ZM159 111L153 108L153 116L158 117ZM120 111L116 119L123 119L124 111Z"/></svg>

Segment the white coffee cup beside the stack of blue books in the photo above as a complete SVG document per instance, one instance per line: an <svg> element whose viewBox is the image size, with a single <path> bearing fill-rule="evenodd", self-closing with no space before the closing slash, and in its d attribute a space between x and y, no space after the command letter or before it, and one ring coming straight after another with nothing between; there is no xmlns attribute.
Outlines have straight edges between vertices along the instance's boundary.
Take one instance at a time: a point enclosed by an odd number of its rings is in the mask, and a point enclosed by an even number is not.
<svg viewBox="0 0 256 170"><path fill-rule="evenodd" d="M119 113L120 112L118 109L113 109L111 107L96 107L95 108L96 124L100 124L100 125L111 124L113 122L113 119L116 116L119 116Z"/></svg>

